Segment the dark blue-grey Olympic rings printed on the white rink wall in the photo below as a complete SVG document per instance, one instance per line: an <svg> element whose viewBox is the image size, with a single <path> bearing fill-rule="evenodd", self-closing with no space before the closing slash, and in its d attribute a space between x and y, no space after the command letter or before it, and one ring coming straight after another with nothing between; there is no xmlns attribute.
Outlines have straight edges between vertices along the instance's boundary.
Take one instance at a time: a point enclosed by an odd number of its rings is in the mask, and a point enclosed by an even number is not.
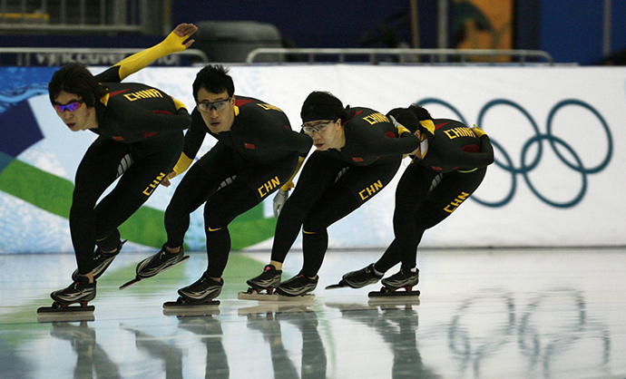
<svg viewBox="0 0 626 379"><path fill-rule="evenodd" d="M425 106L426 104L442 105L448 110L454 112L459 121L462 121L463 123L465 123L465 125L468 125L468 126L472 125L472 123L466 122L465 117L463 117L461 112L459 112L449 102L445 102L443 100L439 100L435 98L426 98L415 103L420 104L422 106ZM542 133L539 130L537 123L534 121L533 116L529 112L527 112L525 109L523 109L521 105L517 104L516 102L506 100L506 99L495 99L491 102L487 102L483 106L481 111L478 113L478 120L476 121L476 124L478 125L478 127L482 128L482 124L484 122L484 116L487 112L489 112L490 110L493 110L495 107L502 107L502 106L511 107L514 109L514 111L522 113L523 117L526 120L530 121L531 125L533 126L533 131L535 135L532 138L530 138L528 141L525 141L523 143L523 148L521 151L521 160L520 160L521 165L519 167L515 167L514 162L513 160L511 160L511 156L509 155L509 153L504 150L504 147L500 143L495 141L494 138L490 136L490 140L492 142L492 145L494 146L494 149L502 152L502 155L504 156L504 162L496 159L494 160L494 163L501 169L506 170L511 173L511 178L512 178L511 190L509 190L508 194L504 197L504 199L499 200L499 201L490 202L490 201L486 201L483 199L477 199L475 196L472 196L471 199L474 199L474 201L477 201L478 203L483 204L486 207L493 207L493 208L503 207L505 204L511 201L511 199L513 199L514 194L515 194L515 189L517 188L517 175L522 175L523 180L526 182L526 185L528 186L528 188L533 192L533 194L538 199L541 199L546 204L552 205L553 207L556 207L556 208L571 208L575 206L576 204L578 204L584 197L585 192L587 191L587 175L594 174L594 173L604 170L608 166L609 162L611 161L611 156L613 153L613 141L611 137L611 130L609 129L609 125L607 124L607 122L604 121L604 118L602 118L602 114L600 114L600 112L596 111L591 105L589 105L586 102L582 102L576 99L566 99L561 102L558 102L556 105L553 106L546 120L546 132ZM608 141L608 144L607 144L608 149L606 151L606 154L602 158L602 161L596 166L585 167L579 154L576 151L574 151L572 146L568 144L566 141L563 141L561 138L553 135L554 117L556 116L558 112L564 112L564 110L567 109L568 107L581 107L583 110L587 112L591 112L592 115L602 124L602 128L604 132L606 133L606 139ZM485 131L487 130L485 129ZM547 141L550 144L550 147L552 148L554 154L556 154L556 156L559 158L559 160L562 161L562 163L564 163L568 168L581 174L582 176L581 189L578 190L578 193L575 196L573 196L572 199L565 199L563 201L554 201L552 199L548 199L543 193L537 190L537 187L535 185L533 185L533 182L531 181L529 174L538 166L539 161L542 159L543 141ZM528 157L529 151L531 151L531 147L533 145L537 145L537 148L535 150L536 155L534 157ZM563 156L562 151L560 151L560 149L558 149L557 146L560 146L562 150L567 151L569 154L571 154L572 159L567 159L565 156ZM529 159L529 158L533 158L533 159Z"/></svg>

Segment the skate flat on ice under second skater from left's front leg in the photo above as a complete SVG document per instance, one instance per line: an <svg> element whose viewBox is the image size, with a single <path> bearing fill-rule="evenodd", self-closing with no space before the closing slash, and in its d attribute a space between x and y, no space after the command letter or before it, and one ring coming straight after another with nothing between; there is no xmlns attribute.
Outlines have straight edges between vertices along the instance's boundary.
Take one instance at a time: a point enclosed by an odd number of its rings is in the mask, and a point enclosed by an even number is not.
<svg viewBox="0 0 626 379"><path fill-rule="evenodd" d="M204 273L191 286L179 289L178 294L180 297L176 301L163 303L163 313L165 313L165 310L173 313L175 311L189 310L190 308L198 310L200 308L219 306L220 301L213 299L220 296L221 287L223 286L223 280L218 282Z"/></svg>

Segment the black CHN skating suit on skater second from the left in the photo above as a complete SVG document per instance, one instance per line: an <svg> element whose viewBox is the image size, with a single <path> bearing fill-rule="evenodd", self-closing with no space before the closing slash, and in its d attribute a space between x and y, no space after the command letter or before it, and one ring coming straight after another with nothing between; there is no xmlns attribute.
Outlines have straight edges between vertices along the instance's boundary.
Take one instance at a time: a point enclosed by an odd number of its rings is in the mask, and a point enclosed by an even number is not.
<svg viewBox="0 0 626 379"><path fill-rule="evenodd" d="M312 140L292 131L279 108L249 97L235 97L230 131L211 132L197 108L191 116L177 173L190 166L207 134L218 142L191 166L174 192L165 212L166 246L182 245L191 212L206 202L207 274L221 277L230 252L230 221L288 183Z"/></svg>

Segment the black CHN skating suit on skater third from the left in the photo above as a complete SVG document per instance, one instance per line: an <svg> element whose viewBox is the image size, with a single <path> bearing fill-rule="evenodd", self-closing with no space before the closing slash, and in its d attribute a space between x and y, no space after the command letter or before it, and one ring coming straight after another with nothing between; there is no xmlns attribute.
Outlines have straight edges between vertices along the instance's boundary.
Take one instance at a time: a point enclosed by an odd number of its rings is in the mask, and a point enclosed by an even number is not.
<svg viewBox="0 0 626 379"><path fill-rule="evenodd" d="M327 228L376 196L394 178L402 155L419 140L380 112L351 108L343 121L346 145L340 151L314 151L295 190L280 211L271 260L283 262L300 228L303 230L302 274L315 277L328 248Z"/></svg>

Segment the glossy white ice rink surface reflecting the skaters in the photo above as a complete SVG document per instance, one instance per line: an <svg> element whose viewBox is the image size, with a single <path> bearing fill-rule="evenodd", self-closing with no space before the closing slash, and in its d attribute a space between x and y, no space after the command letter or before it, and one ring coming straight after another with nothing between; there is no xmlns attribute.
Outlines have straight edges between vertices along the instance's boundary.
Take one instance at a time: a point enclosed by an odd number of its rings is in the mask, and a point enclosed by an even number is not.
<svg viewBox="0 0 626 379"><path fill-rule="evenodd" d="M207 258L119 290L145 254L98 281L93 319L42 320L72 255L0 256L0 378L624 378L626 249L432 249L419 301L325 290L381 251L330 250L310 302L238 300L266 252L235 252L220 306L164 315ZM298 273L301 252L285 262ZM387 275L396 272L397 267ZM90 317L87 317L90 318Z"/></svg>

